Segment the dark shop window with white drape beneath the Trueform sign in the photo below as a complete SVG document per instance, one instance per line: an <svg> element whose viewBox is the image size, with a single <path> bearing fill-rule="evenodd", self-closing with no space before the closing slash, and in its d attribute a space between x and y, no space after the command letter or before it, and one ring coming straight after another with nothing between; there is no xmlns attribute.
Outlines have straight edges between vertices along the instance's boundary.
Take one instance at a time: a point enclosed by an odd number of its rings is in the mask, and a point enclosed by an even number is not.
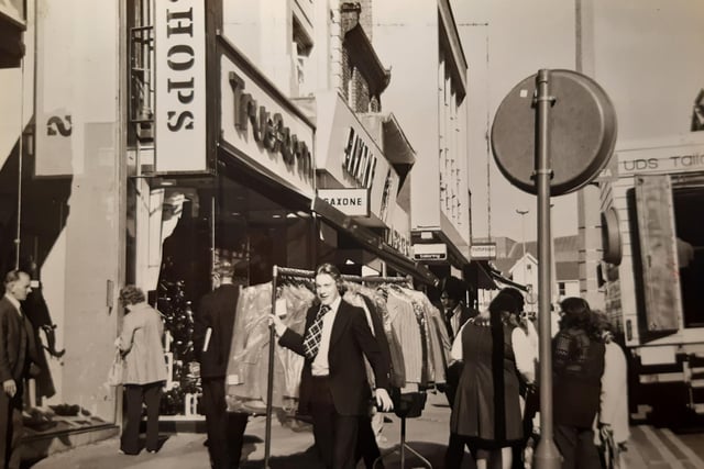
<svg viewBox="0 0 704 469"><path fill-rule="evenodd" d="M274 265L309 269L314 261L312 219L302 205L287 203L285 189L257 183L256 176L221 169L211 178L152 187L150 210L141 215L145 228L130 249L135 281L164 315L168 380L160 414L176 420L200 418L194 314L212 288L212 266L231 263L234 283L246 287L271 281Z"/></svg>

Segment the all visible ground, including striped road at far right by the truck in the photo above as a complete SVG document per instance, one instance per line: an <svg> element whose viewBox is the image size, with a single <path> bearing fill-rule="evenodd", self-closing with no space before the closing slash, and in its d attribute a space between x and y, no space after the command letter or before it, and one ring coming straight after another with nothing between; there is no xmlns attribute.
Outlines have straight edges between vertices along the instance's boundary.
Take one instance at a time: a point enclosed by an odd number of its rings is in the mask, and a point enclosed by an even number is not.
<svg viewBox="0 0 704 469"><path fill-rule="evenodd" d="M406 420L406 444L426 460L415 456L411 449L404 450L400 464L398 444L402 436L402 418L386 414L382 435L386 439L380 447L384 466L392 468L442 468L442 460L449 436L450 409L444 394L429 393L422 414ZM252 416L246 427L241 469L264 468L265 427L264 416ZM284 422L284 424L282 423ZM624 468L704 468L704 461L668 429L646 425L631 427L628 451L622 455ZM162 448L156 454L142 450L136 456L118 453L119 438L112 437L98 443L82 445L51 455L37 462L24 466L32 469L208 469L208 450L204 445L205 433L178 432L161 434ZM310 426L297 421L272 421L268 469L316 468ZM428 464L430 466L428 466ZM363 467L361 464L359 467ZM475 465L466 454L463 469Z"/></svg>

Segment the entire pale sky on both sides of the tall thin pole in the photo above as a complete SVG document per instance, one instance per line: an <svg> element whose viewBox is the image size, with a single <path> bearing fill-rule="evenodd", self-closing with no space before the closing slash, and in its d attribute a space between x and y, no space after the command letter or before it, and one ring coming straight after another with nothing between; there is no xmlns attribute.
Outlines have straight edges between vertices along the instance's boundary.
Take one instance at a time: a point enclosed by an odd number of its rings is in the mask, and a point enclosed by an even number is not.
<svg viewBox="0 0 704 469"><path fill-rule="evenodd" d="M472 236L536 239L537 198L498 171L487 147L494 113L517 83L542 68L583 72L617 114L620 150L691 138L692 104L704 86L704 3L691 0L450 0L468 59ZM618 158L614 156L613 158ZM553 197L552 235L578 234L576 194Z"/></svg>

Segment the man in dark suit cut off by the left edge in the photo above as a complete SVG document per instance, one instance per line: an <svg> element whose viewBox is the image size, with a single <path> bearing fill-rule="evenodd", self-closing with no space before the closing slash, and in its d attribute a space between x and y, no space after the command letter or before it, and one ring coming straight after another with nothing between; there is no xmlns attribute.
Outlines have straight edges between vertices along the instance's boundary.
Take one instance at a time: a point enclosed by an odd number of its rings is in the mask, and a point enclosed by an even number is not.
<svg viewBox="0 0 704 469"><path fill-rule="evenodd" d="M3 469L20 468L23 383L37 371L34 333L20 305L30 291L26 272L8 272L4 297L0 299L0 457Z"/></svg>

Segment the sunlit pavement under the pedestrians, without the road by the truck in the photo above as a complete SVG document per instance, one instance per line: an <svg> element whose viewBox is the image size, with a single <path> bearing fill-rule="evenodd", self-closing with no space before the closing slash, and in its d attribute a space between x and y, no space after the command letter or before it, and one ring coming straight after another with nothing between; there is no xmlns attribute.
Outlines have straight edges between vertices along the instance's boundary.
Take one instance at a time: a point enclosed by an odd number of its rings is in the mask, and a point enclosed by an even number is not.
<svg viewBox="0 0 704 469"><path fill-rule="evenodd" d="M386 414L386 423L382 432L385 443L380 445L386 468L400 467L402 420L393 413ZM272 420L270 449L270 469L308 469L316 468L314 438L308 424L294 421ZM444 394L429 393L428 402L419 417L406 420L406 444L422 455L431 467L441 468L447 439L449 436L450 407ZM244 434L241 469L264 467L266 418L252 416ZM136 456L118 453L119 438L82 445L63 453L56 453L45 459L30 464L32 469L208 469L208 449L204 445L205 433L161 433L162 448L156 454L142 450ZM413 455L410 449L404 450L405 467L428 467ZM463 469L474 468L471 457L465 458ZM361 465L360 467L362 467Z"/></svg>

